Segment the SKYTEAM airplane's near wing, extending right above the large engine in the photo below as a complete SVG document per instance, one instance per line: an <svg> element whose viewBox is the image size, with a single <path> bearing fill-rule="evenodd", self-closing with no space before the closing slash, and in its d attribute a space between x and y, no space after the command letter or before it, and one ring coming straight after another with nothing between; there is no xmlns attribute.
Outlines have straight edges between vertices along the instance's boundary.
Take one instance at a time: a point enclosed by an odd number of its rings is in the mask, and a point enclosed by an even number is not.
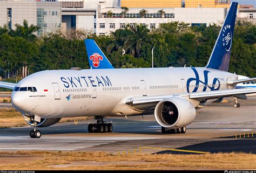
<svg viewBox="0 0 256 173"><path fill-rule="evenodd" d="M158 95L158 96L142 96L137 98L127 99L125 104L130 106L143 106L157 104L159 101L171 98L173 96L184 97L187 99L192 99L196 101L201 101L205 99L218 99L229 96L235 96L241 99L246 99L245 94L256 93L256 88L241 88L241 89L225 89L220 91L207 91L207 92L197 92L197 93L187 93L187 94L177 94L177 95Z"/></svg>

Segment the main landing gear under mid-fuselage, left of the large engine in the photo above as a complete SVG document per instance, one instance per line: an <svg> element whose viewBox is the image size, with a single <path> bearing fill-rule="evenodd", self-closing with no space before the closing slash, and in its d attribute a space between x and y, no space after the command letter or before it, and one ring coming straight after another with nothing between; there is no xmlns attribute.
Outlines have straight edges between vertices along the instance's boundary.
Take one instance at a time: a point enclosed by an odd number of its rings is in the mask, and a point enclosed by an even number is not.
<svg viewBox="0 0 256 173"><path fill-rule="evenodd" d="M95 116L95 120L97 123L89 124L88 125L88 132L89 133L111 133L113 130L113 126L111 123L106 123L103 121L103 116Z"/></svg>

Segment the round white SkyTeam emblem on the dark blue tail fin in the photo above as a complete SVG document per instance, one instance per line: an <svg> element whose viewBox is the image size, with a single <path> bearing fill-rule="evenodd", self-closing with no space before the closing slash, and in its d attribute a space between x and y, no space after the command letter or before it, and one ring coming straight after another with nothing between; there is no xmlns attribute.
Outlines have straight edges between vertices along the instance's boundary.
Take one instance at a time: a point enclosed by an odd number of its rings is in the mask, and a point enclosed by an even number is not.
<svg viewBox="0 0 256 173"><path fill-rule="evenodd" d="M223 27L222 41L223 41L223 46L225 47L225 50L230 51L231 45L232 45L232 32L231 32L230 25L225 25Z"/></svg>

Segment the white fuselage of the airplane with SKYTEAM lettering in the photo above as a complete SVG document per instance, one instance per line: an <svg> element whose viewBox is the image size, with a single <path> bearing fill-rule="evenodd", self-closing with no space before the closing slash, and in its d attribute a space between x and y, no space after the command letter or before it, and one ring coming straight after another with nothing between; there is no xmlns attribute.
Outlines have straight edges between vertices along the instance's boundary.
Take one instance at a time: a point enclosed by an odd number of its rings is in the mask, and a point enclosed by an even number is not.
<svg viewBox="0 0 256 173"><path fill-rule="evenodd" d="M37 92L14 91L12 104L43 118L139 115L143 111L126 105L127 99L227 89L226 81L234 79L235 74L203 67L41 71L16 86Z"/></svg>

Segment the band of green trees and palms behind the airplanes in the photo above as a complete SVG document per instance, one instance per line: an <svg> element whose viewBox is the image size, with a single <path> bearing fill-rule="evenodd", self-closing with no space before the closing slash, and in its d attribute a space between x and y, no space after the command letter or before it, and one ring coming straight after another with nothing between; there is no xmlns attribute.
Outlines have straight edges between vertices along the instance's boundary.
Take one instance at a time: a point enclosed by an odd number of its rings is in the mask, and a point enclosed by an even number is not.
<svg viewBox="0 0 256 173"><path fill-rule="evenodd" d="M123 8L124 13L129 9ZM160 14L164 11L159 10ZM136 24L118 29L110 36L72 31L63 35L50 33L37 38L36 26L16 25L16 30L0 27L0 73L3 78L21 78L22 66L29 73L42 70L89 68L84 38L95 39L115 68L151 67L154 47L154 67L201 66L207 64L220 26L190 26L183 22L160 24L150 31ZM230 72L256 77L256 27L238 22L235 26ZM122 50L125 50L124 56ZM16 82L16 80L14 81Z"/></svg>

